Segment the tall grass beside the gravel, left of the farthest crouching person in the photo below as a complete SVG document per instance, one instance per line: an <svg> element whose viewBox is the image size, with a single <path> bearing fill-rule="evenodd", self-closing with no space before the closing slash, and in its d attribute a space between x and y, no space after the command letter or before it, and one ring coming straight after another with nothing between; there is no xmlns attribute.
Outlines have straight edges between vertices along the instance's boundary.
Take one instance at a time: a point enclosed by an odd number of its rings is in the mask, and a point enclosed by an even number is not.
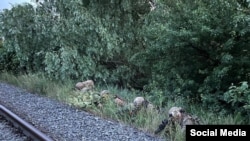
<svg viewBox="0 0 250 141"><path fill-rule="evenodd" d="M0 75L0 80L17 87L26 89L30 93L36 93L63 101L67 98L68 93L72 91L72 82L69 85L56 83L46 79L42 74L24 74L15 76L4 72Z"/></svg>

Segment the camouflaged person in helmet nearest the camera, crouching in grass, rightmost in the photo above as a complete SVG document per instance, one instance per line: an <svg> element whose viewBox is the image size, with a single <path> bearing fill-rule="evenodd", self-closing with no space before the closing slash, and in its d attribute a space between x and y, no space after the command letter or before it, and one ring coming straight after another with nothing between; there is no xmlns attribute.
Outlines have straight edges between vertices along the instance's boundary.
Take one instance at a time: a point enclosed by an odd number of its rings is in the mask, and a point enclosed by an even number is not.
<svg viewBox="0 0 250 141"><path fill-rule="evenodd" d="M166 127L166 134L169 135L176 131L176 127L179 126L182 132L185 131L186 125L199 125L200 121L197 117L191 116L185 112L181 107L172 107L168 112L168 119L162 121L155 131L155 134L160 133Z"/></svg>

